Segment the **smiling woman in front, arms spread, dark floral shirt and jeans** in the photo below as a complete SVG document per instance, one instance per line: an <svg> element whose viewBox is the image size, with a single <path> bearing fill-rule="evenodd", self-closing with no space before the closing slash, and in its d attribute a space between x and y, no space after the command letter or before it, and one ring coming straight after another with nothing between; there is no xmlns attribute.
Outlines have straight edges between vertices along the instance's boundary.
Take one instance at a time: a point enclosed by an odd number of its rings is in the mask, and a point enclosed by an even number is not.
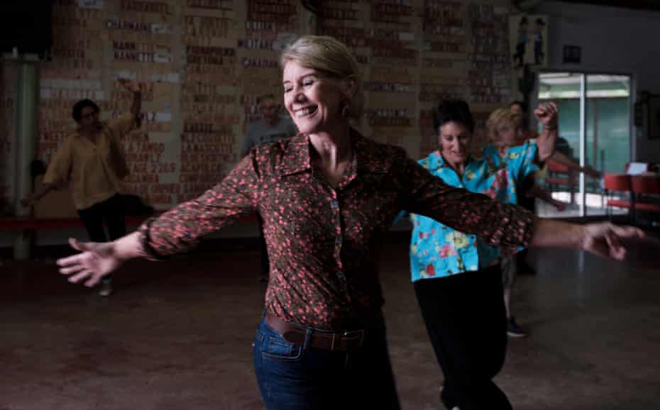
<svg viewBox="0 0 660 410"><path fill-rule="evenodd" d="M363 137L358 63L331 37L306 35L282 52L287 111L299 133L250 150L197 199L111 243L70 240L57 261L70 282L97 283L127 260L158 260L258 213L270 255L253 347L270 410L400 409L387 353L378 276L385 233L400 209L487 243L572 246L622 258L636 228L571 225L450 187L405 150Z"/></svg>

